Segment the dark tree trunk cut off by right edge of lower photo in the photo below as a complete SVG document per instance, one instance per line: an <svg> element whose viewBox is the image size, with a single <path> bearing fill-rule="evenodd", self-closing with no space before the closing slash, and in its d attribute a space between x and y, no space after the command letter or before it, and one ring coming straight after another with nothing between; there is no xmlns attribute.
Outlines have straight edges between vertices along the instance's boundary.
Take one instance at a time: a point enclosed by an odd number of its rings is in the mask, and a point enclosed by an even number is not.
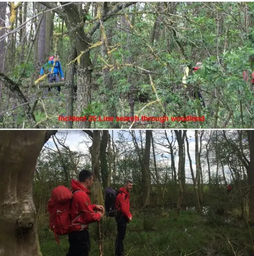
<svg viewBox="0 0 254 256"><path fill-rule="evenodd" d="M254 225L254 131L247 131L248 142L250 148L250 164L247 171L248 174L248 184L252 186L250 188L249 195L249 223Z"/></svg>

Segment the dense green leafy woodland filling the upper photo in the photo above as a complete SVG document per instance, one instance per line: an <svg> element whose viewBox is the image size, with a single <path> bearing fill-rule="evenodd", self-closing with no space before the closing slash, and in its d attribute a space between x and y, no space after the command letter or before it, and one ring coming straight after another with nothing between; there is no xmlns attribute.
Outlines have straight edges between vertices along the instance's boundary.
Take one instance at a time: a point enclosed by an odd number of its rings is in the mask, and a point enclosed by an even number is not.
<svg viewBox="0 0 254 256"><path fill-rule="evenodd" d="M253 2L1 2L0 127L251 128L253 12ZM55 54L64 81L48 92L38 78ZM169 121L58 119L73 115ZM188 115L204 121L170 119Z"/></svg>

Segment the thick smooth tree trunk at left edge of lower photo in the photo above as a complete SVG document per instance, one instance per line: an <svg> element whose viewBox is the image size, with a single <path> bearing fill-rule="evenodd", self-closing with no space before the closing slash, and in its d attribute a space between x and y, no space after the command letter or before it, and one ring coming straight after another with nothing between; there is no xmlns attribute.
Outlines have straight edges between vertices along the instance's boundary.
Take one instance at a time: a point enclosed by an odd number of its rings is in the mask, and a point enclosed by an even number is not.
<svg viewBox="0 0 254 256"><path fill-rule="evenodd" d="M33 202L33 179L42 146L54 133L56 131L0 133L1 256L42 255Z"/></svg>

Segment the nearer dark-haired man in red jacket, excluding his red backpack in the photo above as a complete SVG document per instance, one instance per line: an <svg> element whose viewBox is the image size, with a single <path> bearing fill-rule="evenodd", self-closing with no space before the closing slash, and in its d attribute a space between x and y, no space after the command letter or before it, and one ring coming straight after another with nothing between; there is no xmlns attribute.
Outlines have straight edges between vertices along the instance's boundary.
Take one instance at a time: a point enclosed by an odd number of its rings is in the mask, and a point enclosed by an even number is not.
<svg viewBox="0 0 254 256"><path fill-rule="evenodd" d="M66 256L88 256L90 250L90 235L88 224L100 221L104 214L102 205L91 204L89 197L94 183L94 174L88 170L79 173L79 181L71 181L73 198L71 202L71 233L68 234L69 251ZM99 211L99 212L94 212Z"/></svg>

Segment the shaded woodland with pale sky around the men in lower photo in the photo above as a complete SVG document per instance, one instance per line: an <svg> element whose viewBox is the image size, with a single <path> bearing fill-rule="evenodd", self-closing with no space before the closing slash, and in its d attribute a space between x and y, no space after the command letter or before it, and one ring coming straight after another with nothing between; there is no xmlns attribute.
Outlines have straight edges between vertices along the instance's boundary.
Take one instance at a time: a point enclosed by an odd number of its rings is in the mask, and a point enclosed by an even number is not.
<svg viewBox="0 0 254 256"><path fill-rule="evenodd" d="M46 206L83 168L96 177L96 204L105 187L133 180L126 255L254 253L254 131L0 131L0 145L0 256L66 254ZM89 255L113 256L114 218L89 230Z"/></svg>

